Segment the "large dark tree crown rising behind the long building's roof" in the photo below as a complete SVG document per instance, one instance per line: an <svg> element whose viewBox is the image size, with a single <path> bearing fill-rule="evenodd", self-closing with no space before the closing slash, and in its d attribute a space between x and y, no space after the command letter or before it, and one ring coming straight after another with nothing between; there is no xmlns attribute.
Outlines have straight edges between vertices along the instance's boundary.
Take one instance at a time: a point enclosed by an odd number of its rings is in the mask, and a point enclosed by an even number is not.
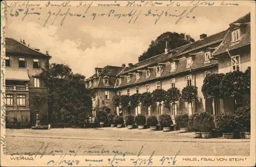
<svg viewBox="0 0 256 167"><path fill-rule="evenodd" d="M146 52L144 52L139 57L139 61L151 58L153 56L162 54L164 52L166 41L168 42L167 49L173 50L177 47L183 46L185 44L195 42L190 35L186 35L184 33L176 33L176 32L165 32L157 37L155 41L151 41L150 45Z"/></svg>

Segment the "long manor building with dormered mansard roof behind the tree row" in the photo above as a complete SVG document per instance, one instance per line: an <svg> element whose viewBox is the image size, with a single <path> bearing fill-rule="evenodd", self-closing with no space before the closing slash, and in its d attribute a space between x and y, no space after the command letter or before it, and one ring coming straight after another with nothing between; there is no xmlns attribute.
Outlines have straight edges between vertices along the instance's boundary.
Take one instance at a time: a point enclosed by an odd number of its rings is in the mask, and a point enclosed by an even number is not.
<svg viewBox="0 0 256 167"><path fill-rule="evenodd" d="M86 86L94 90L94 115L98 110L133 115L192 114L205 110L217 114L217 111L235 110L236 105L242 103L240 99L218 99L214 105L212 99L204 98L201 88L207 75L245 71L250 66L250 13L230 23L227 30L210 36L201 34L200 39L193 43L163 52L136 64L95 68L95 74L86 80ZM135 109L115 107L112 102L116 95L131 96L171 87L181 91L186 85L198 87L198 99L192 105L179 100L172 104L154 103L150 108L139 105ZM218 109L213 109L214 106Z"/></svg>

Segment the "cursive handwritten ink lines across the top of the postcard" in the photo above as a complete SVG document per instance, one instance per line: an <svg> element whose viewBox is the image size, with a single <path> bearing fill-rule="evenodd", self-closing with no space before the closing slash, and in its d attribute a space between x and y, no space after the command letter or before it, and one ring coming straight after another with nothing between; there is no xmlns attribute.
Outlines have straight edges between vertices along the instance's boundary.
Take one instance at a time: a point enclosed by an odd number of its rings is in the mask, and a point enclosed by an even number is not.
<svg viewBox="0 0 256 167"><path fill-rule="evenodd" d="M102 3L102 4L101 4ZM195 19L193 13L196 13L198 7L219 6L238 6L237 3L223 2L202 2L202 1L124 1L122 4L118 1L108 2L109 4L97 1L80 2L11 2L4 3L4 18L18 17L22 20L36 18L44 22L44 27L54 25L60 21L63 26L68 17L86 19L84 21L96 19L128 19L128 23L135 23L141 17L153 18L157 24L162 17L174 18L175 24L184 19ZM185 4L184 4L185 3ZM99 7L99 8L97 8ZM101 7L106 7L108 10ZM143 8L147 7L147 8ZM150 9L148 9L150 7ZM161 7L161 8L156 8ZM104 12L102 12L104 11ZM33 16L33 17L31 17ZM30 17L30 18L29 18Z"/></svg>

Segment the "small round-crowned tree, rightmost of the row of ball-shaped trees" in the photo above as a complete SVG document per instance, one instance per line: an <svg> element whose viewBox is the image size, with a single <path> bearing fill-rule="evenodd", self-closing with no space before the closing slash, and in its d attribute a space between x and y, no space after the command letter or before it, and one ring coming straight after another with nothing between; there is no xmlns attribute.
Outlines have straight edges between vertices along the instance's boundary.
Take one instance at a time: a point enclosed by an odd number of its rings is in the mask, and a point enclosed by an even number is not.
<svg viewBox="0 0 256 167"><path fill-rule="evenodd" d="M192 113L193 113L192 103L194 100L197 99L197 96L198 96L198 92L197 92L196 86L186 86L181 91L181 98L184 100L184 102L191 104Z"/></svg>

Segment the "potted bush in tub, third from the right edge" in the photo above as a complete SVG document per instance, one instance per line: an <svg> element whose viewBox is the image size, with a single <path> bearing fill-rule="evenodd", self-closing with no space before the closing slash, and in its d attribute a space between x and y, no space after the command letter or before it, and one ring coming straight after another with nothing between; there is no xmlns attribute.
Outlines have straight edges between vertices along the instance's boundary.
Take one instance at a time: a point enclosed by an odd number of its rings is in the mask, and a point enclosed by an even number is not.
<svg viewBox="0 0 256 167"><path fill-rule="evenodd" d="M214 128L214 117L209 112L199 113L199 127L202 138L211 138L211 130Z"/></svg>

